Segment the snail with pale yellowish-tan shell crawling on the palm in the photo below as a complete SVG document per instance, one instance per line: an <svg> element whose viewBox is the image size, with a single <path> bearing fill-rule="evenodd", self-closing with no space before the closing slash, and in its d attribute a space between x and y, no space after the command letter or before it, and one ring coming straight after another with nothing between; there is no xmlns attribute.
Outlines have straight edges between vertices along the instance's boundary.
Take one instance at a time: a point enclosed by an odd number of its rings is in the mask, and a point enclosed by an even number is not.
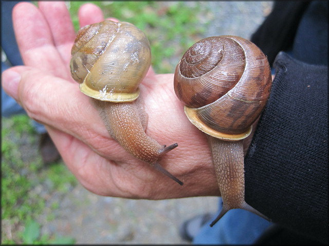
<svg viewBox="0 0 329 246"><path fill-rule="evenodd" d="M136 26L104 20L81 28L71 49L71 76L98 109L106 129L136 158L183 183L162 168L163 155L178 145L160 145L145 133L148 115L138 86L151 64L148 38Z"/></svg>

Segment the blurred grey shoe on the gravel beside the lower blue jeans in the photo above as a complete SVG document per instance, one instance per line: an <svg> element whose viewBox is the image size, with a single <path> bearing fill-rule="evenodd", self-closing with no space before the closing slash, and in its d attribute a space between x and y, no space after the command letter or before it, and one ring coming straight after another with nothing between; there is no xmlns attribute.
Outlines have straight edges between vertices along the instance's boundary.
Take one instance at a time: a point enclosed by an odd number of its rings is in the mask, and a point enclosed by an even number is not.
<svg viewBox="0 0 329 246"><path fill-rule="evenodd" d="M193 238L198 234L202 226L213 217L212 214L200 214L181 224L179 235L182 239L192 242Z"/></svg>

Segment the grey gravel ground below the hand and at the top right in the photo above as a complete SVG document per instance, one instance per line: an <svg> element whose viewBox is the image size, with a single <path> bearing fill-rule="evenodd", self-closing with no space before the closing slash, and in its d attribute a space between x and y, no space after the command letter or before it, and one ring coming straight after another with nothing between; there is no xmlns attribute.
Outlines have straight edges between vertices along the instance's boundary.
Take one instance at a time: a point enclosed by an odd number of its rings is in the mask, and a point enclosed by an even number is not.
<svg viewBox="0 0 329 246"><path fill-rule="evenodd" d="M171 2L163 3L171 4ZM186 2L193 5L193 2ZM203 2L200 25L204 37L238 35L249 38L270 12L272 2ZM211 25L207 25L208 23ZM177 62L180 57L173 57ZM188 243L178 234L182 222L194 215L216 212L217 197L132 200L102 197L76 186L64 196L49 197L59 208L46 206L38 220L42 233L73 237L77 243ZM52 221L47 220L54 215Z"/></svg>

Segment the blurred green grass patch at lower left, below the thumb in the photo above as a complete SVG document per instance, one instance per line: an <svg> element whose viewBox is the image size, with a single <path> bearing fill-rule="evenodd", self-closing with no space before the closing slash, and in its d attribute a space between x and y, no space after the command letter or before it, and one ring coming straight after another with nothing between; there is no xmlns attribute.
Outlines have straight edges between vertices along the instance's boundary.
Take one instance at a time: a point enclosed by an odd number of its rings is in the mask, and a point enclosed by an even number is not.
<svg viewBox="0 0 329 246"><path fill-rule="evenodd" d="M1 216L12 235L9 237L7 231L2 230L2 243L73 243L73 238L41 234L37 219L47 199L36 188L45 190L48 195L65 194L77 184L76 178L62 161L46 167L38 152L24 153L24 150L38 148L38 136L27 115L2 118L1 130ZM51 204L51 207L56 209L58 204Z"/></svg>

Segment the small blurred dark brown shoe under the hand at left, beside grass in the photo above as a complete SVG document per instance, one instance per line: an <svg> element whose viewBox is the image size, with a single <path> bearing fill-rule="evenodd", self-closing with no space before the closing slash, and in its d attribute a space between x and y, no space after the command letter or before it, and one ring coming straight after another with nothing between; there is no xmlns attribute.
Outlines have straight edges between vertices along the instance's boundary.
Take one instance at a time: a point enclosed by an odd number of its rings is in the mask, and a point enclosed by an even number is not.
<svg viewBox="0 0 329 246"><path fill-rule="evenodd" d="M39 139L39 151L44 164L57 161L61 158L56 146L53 144L48 133L42 133Z"/></svg>

